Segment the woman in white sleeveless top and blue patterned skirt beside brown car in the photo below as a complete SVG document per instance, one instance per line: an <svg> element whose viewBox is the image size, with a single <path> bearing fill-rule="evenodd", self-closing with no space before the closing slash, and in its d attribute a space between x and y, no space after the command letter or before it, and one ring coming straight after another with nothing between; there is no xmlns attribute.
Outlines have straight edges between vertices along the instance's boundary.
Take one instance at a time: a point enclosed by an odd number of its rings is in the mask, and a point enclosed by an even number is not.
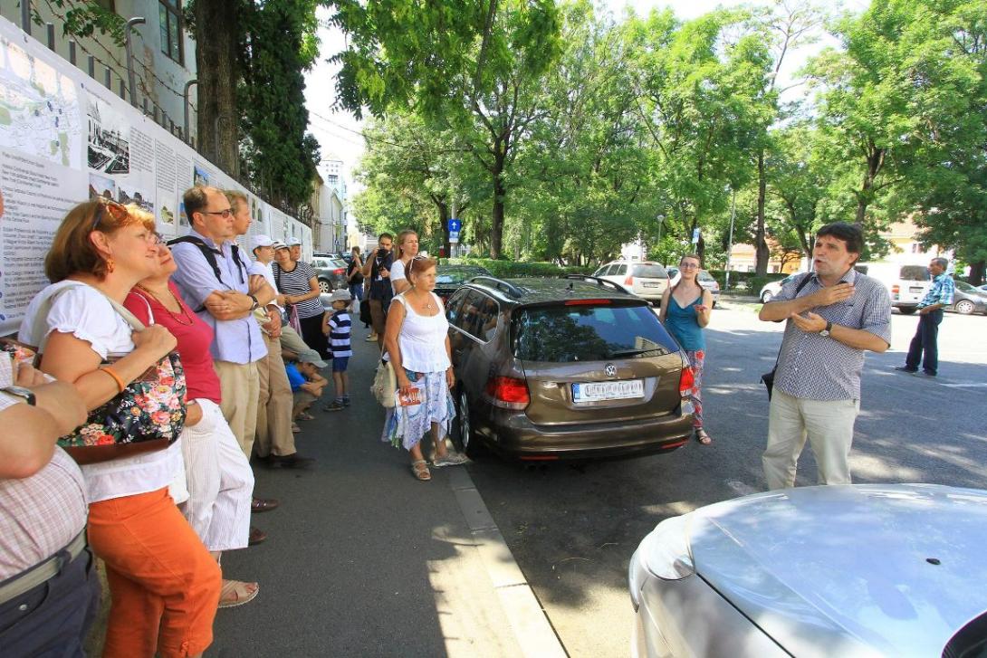
<svg viewBox="0 0 987 658"><path fill-rule="evenodd" d="M411 288L394 298L384 344L398 383L398 403L384 425L384 440L411 453L412 473L431 479L421 439L431 431L432 466L455 466L466 459L450 455L445 437L456 415L449 390L455 384L449 354L449 321L435 288L435 260L418 256L408 264Z"/></svg>

